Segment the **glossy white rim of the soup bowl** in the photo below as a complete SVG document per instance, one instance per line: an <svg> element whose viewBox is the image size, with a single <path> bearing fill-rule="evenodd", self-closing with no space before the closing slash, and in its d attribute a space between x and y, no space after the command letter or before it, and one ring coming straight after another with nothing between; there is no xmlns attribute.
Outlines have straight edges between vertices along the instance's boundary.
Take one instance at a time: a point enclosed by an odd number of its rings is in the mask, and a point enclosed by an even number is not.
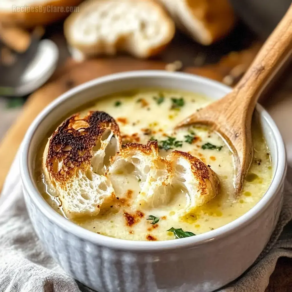
<svg viewBox="0 0 292 292"><path fill-rule="evenodd" d="M255 220L260 216L263 211L270 205L274 197L276 196L279 188L281 187L284 176L286 172L286 152L283 139L277 128L272 117L267 113L267 111L259 104L256 106L257 112L261 117L267 122L268 126L272 129L273 139L277 145L277 161L275 161L275 174L272 179L272 182L265 192L264 196L260 201L251 208L244 215L233 220L226 225L223 225L215 230L211 230L202 234L198 234L193 237L186 237L180 240L167 240L167 241L132 241L127 239L117 239L108 237L105 235L97 234L86 230L83 227L78 226L77 224L67 220L62 215L58 214L56 211L49 206L49 204L44 200L39 191L36 189L33 183L33 178L29 174L29 161L28 153L31 146L31 140L34 136L34 133L46 118L46 116L58 105L65 102L71 96L76 95L88 88L93 86L98 86L105 82L114 82L117 79L131 79L131 78L147 78L147 77L166 77L171 79L189 79L190 81L196 81L197 83L204 84L206 86L214 86L220 89L223 92L231 91L231 88L221 84L220 82L213 81L211 79L197 76L194 74L183 73L183 72L167 72L162 70L140 70L140 71L129 71L110 74L104 77L99 77L88 81L84 84L81 84L71 90L63 93L57 99L53 100L48 106L45 107L39 113L39 115L34 119L30 125L25 137L20 146L20 175L22 179L23 188L26 190L29 197L34 201L39 211L45 215L51 222L58 225L62 230L72 233L75 236L88 240L94 244L107 246L108 248L113 248L117 250L135 250L135 251L162 251L168 249L175 249L188 246L199 246L201 244L206 244L208 242L218 240L219 238L226 237L227 235L236 232L238 229L245 227L251 221Z"/></svg>

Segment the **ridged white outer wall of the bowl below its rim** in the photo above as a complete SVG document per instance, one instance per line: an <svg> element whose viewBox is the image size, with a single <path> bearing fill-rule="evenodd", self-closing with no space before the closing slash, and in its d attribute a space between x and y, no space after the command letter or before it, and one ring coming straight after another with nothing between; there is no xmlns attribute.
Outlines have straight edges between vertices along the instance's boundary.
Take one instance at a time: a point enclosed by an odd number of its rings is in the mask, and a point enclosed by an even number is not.
<svg viewBox="0 0 292 292"><path fill-rule="evenodd" d="M209 292L239 277L258 257L279 218L283 185L265 212L241 230L164 252L122 251L68 233L45 217L24 190L44 248L60 266L98 292Z"/></svg>

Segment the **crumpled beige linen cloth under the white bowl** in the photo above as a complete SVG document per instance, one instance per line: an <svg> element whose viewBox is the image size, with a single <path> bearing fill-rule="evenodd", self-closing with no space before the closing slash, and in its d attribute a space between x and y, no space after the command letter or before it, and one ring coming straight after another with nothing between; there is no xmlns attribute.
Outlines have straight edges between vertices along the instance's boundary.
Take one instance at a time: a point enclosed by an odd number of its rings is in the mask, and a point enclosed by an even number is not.
<svg viewBox="0 0 292 292"><path fill-rule="evenodd" d="M288 178L292 178L292 168ZM292 187L286 182L284 205L270 242L255 264L220 292L265 291L278 258L292 257L291 223L287 225L291 219ZM42 248L25 208L18 159L0 196L0 288L1 292L92 291L66 275Z"/></svg>

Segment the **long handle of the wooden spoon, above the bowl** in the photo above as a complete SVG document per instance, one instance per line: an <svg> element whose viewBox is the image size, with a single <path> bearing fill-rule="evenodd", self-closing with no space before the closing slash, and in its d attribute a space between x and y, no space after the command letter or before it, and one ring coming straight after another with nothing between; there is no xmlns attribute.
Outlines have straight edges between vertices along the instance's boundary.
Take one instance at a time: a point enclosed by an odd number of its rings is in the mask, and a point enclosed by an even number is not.
<svg viewBox="0 0 292 292"><path fill-rule="evenodd" d="M267 84L292 53L292 4L234 88L237 106L253 111Z"/></svg>

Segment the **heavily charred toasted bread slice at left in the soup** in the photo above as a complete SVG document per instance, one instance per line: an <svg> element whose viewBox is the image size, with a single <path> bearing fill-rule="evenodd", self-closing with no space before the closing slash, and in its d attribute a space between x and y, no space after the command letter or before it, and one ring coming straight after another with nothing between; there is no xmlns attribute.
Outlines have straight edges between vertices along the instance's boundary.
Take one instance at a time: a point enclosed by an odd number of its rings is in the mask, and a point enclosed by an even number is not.
<svg viewBox="0 0 292 292"><path fill-rule="evenodd" d="M74 114L51 135L43 156L45 179L69 219L96 216L112 204L105 168L120 147L119 126L105 112Z"/></svg>

